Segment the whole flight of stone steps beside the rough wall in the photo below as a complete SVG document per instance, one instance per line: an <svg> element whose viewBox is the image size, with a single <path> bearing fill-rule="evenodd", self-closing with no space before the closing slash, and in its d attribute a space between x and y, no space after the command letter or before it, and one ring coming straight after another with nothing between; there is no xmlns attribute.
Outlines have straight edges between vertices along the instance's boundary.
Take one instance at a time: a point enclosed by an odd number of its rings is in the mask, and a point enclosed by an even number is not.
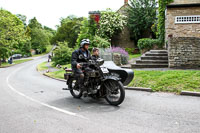
<svg viewBox="0 0 200 133"><path fill-rule="evenodd" d="M150 50L131 64L131 68L166 68L168 67L167 50Z"/></svg>

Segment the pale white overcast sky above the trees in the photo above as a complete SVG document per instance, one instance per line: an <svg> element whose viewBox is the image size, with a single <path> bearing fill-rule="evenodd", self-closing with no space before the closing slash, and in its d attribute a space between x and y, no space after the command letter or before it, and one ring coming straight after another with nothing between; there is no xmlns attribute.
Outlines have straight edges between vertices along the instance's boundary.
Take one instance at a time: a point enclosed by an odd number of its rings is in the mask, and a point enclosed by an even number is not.
<svg viewBox="0 0 200 133"><path fill-rule="evenodd" d="M28 20L36 17L45 26L56 29L60 18L69 15L88 17L89 11L113 11L123 6L124 0L0 0L0 8L13 14L22 14Z"/></svg>

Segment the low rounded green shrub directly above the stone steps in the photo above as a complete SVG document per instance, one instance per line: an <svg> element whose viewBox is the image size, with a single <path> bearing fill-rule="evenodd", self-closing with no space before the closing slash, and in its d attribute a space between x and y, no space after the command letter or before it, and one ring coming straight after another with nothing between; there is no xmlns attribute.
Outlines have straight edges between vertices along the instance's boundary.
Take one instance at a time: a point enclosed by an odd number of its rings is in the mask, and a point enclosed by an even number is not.
<svg viewBox="0 0 200 133"><path fill-rule="evenodd" d="M158 39L143 38L138 41L138 48L140 50L147 49L150 50L154 46L159 46L160 41Z"/></svg>

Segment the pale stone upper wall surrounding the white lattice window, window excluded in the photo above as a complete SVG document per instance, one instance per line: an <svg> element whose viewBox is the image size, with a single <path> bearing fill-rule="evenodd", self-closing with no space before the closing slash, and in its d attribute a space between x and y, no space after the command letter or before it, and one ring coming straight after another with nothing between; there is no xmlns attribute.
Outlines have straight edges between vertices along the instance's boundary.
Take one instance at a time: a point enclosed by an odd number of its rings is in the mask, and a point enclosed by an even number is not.
<svg viewBox="0 0 200 133"><path fill-rule="evenodd" d="M175 24L176 16L200 15L200 7L168 8L166 15L166 40L172 37L200 37L200 24Z"/></svg>

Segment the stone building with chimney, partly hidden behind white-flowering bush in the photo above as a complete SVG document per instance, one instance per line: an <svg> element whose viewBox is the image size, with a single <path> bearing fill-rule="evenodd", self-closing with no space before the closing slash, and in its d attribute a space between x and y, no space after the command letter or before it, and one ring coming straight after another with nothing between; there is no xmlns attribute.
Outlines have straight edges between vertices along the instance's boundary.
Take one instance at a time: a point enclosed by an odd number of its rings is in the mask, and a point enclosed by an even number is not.
<svg viewBox="0 0 200 133"><path fill-rule="evenodd" d="M126 10L129 7L128 0L124 0L124 5L117 11L120 14L128 16ZM119 46L122 48L135 48L134 40L130 39L130 29L125 26L121 33L113 36L112 46Z"/></svg>

